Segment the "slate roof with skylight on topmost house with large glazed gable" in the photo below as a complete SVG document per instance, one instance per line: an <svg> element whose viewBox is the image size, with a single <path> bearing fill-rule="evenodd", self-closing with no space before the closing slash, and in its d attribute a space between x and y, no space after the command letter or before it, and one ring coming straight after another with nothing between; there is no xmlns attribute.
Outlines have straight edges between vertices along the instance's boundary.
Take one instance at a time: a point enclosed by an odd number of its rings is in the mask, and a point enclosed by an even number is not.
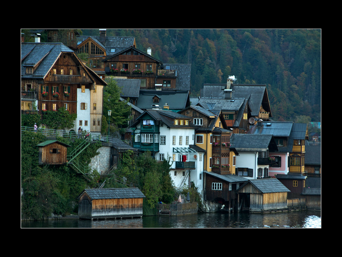
<svg viewBox="0 0 342 257"><path fill-rule="evenodd" d="M117 52L121 52L122 50L133 46L134 37L108 37L106 36L106 42L102 44L100 42L100 36L78 36L77 37L77 45L81 44L84 40L91 38L93 39L99 46L105 48L107 56L110 54L115 54ZM115 52L110 52L110 49L114 48Z"/></svg>

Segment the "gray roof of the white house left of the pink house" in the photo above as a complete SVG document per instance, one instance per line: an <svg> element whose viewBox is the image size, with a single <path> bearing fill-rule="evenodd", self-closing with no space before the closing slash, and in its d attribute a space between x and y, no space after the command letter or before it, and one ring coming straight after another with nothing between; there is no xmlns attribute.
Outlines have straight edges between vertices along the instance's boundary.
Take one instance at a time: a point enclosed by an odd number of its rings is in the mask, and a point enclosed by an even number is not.
<svg viewBox="0 0 342 257"><path fill-rule="evenodd" d="M278 150L272 135L258 134L233 134L231 136L231 147L238 151L266 151Z"/></svg>

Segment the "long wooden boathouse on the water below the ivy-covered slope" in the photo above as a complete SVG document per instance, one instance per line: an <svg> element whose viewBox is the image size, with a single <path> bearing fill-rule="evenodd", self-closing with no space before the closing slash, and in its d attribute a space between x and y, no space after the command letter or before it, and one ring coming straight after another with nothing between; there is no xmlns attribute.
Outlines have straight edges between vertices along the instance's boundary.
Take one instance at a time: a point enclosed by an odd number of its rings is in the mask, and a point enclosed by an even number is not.
<svg viewBox="0 0 342 257"><path fill-rule="evenodd" d="M141 217L144 197L136 187L84 189L78 197L78 216L81 219Z"/></svg>

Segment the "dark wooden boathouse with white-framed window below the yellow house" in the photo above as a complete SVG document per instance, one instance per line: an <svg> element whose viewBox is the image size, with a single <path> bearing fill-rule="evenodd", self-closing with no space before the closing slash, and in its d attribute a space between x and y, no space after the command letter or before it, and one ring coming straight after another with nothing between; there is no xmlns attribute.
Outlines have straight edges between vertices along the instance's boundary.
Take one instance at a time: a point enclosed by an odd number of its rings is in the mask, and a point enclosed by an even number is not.
<svg viewBox="0 0 342 257"><path fill-rule="evenodd" d="M225 210L238 210L238 188L248 179L237 175L220 175L215 172L203 171L204 200L216 201L225 205Z"/></svg>

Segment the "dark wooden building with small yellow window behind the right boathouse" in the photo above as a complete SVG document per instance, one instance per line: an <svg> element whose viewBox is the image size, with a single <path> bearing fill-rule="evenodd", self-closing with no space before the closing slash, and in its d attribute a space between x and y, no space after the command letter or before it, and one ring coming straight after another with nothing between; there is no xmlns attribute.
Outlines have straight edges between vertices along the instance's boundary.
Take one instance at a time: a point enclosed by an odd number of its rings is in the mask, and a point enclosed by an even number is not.
<svg viewBox="0 0 342 257"><path fill-rule="evenodd" d="M291 192L287 193L288 199L301 198L300 194L305 188L306 176L297 173L277 174L276 178Z"/></svg>

